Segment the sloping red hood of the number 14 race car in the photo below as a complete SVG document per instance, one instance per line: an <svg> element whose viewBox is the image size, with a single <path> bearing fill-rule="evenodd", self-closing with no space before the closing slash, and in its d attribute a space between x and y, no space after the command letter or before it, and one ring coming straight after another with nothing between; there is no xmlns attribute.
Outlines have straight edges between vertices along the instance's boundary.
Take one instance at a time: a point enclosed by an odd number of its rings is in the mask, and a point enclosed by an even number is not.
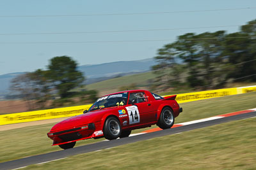
<svg viewBox="0 0 256 170"><path fill-rule="evenodd" d="M62 120L58 124L54 125L51 129L51 132L62 131L65 129L72 129L72 128L79 127L81 125L99 122L104 114L109 113L109 111L113 111L113 110L114 109L92 111L92 112L85 113L83 115L77 115L75 117L67 118L65 120Z"/></svg>

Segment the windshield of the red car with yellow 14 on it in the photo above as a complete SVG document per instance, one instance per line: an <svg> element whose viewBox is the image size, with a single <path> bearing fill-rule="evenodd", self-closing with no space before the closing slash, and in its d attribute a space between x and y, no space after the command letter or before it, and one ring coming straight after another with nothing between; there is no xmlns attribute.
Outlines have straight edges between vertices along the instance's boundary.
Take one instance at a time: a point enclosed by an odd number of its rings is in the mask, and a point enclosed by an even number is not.
<svg viewBox="0 0 256 170"><path fill-rule="evenodd" d="M103 108L110 108L114 106L123 106L127 104L128 93L112 94L109 96L100 97L97 101L90 107L88 111L100 110Z"/></svg>

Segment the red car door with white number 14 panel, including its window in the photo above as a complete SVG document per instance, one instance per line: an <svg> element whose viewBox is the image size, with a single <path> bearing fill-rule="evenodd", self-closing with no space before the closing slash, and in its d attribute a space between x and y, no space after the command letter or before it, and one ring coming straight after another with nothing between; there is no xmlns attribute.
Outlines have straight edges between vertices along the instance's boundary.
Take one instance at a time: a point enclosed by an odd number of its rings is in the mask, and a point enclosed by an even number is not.
<svg viewBox="0 0 256 170"><path fill-rule="evenodd" d="M156 120L156 111L145 92L130 93L128 106L125 108L129 116L129 125L148 124Z"/></svg>

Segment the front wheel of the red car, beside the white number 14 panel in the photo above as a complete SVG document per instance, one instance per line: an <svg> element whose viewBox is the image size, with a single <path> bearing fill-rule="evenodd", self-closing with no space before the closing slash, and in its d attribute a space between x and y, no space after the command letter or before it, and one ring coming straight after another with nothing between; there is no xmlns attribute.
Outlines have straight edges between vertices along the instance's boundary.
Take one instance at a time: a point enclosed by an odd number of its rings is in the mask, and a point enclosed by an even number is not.
<svg viewBox="0 0 256 170"><path fill-rule="evenodd" d="M104 124L104 137L108 140L118 138L122 134L120 122L115 117L109 117Z"/></svg>

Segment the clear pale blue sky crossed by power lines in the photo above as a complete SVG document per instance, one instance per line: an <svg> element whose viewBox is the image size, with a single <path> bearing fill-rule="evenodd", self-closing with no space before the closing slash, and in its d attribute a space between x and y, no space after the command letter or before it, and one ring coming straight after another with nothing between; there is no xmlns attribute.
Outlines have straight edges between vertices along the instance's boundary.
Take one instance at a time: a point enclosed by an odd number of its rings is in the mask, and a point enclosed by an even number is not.
<svg viewBox="0 0 256 170"><path fill-rule="evenodd" d="M187 32L236 32L239 26L170 31L100 32L145 29L175 29L243 25L256 19L256 9L148 15L88 15L84 17L6 17L35 15L81 15L109 13L154 13L230 8L255 8L255 0L179 1L0 1L0 74L45 69L49 59L68 55L79 65L120 60L148 59L170 41L109 43L36 43L81 41L134 41L175 39ZM49 32L92 32L86 34L31 34ZM16 35L13 35L17 33ZM25 35L19 35L25 33ZM12 35L10 35L12 34ZM13 44L21 43L21 44Z"/></svg>

